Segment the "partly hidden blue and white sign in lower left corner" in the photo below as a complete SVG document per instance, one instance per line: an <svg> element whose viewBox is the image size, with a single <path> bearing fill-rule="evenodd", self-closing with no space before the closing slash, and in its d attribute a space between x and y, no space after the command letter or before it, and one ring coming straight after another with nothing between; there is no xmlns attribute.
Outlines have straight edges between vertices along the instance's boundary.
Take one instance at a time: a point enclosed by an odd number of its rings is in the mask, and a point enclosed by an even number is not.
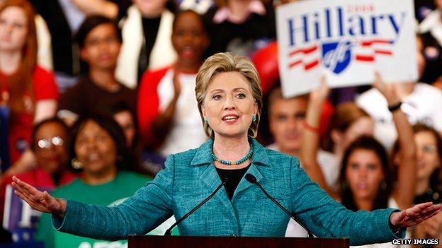
<svg viewBox="0 0 442 248"><path fill-rule="evenodd" d="M40 187L41 191L51 192L50 188ZM16 194L11 184L6 186L3 227L12 233L14 242L32 242L37 231L41 213Z"/></svg>

